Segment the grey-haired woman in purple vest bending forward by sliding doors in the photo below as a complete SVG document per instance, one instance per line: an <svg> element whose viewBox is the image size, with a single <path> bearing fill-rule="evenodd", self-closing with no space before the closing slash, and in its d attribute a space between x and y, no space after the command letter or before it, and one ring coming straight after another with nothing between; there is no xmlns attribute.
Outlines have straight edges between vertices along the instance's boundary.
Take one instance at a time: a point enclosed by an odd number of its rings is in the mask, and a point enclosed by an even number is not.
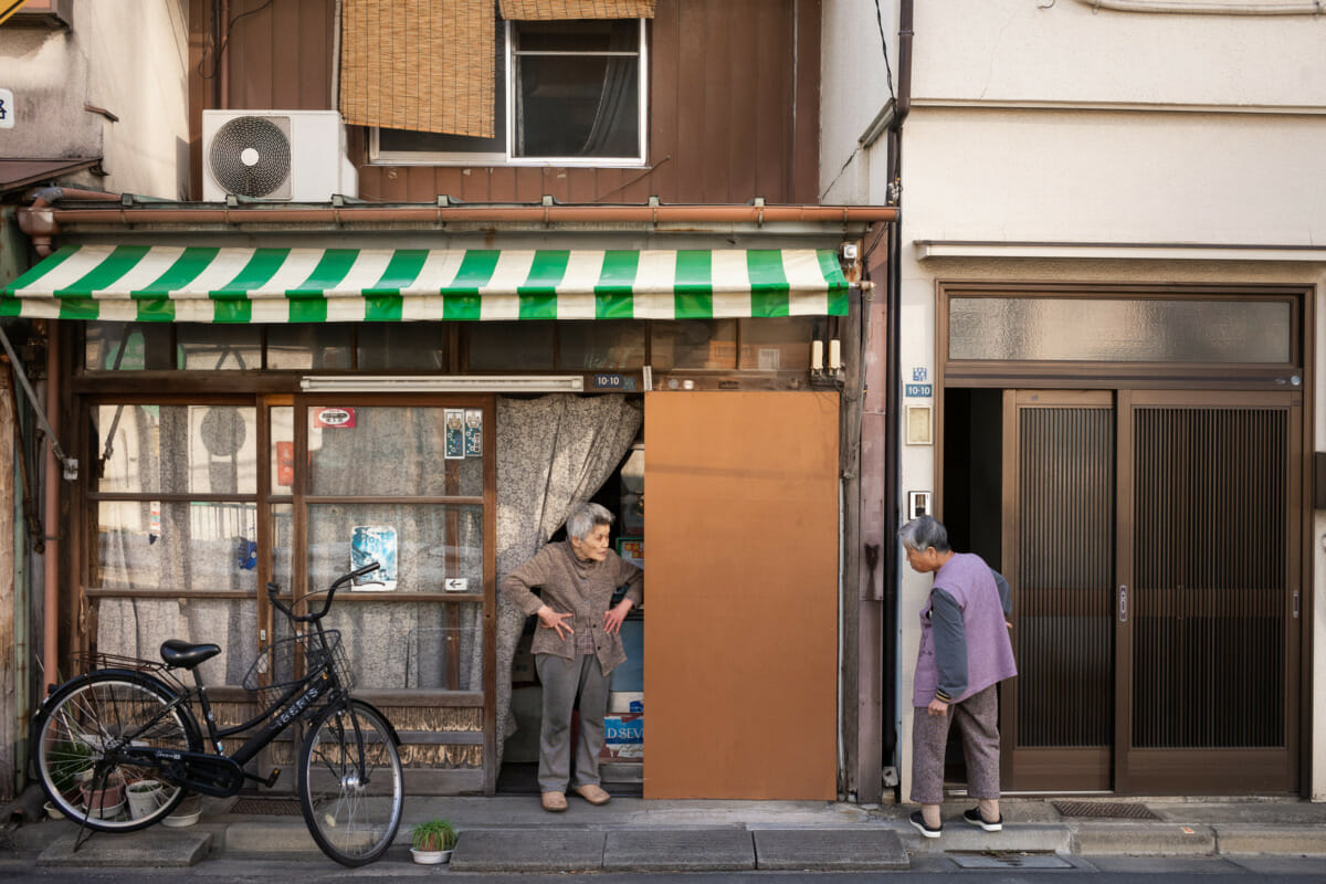
<svg viewBox="0 0 1326 884"><path fill-rule="evenodd" d="M1001 831L994 685L1017 675L1008 637L1012 594L979 555L949 549L948 531L930 516L907 522L898 537L912 570L935 575L920 612L912 685L911 799L920 810L908 820L926 838L939 838L944 828L939 804L944 798L944 746L953 724L967 757L967 794L977 799L963 819L987 832Z"/></svg>

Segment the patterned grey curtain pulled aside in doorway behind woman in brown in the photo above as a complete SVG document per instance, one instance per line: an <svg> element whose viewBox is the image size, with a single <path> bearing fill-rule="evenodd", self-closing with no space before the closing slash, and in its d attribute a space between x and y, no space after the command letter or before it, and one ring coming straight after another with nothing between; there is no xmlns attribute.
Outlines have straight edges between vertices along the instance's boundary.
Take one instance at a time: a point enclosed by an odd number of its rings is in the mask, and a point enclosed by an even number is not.
<svg viewBox="0 0 1326 884"><path fill-rule="evenodd" d="M644 419L625 396L497 400L497 584L548 542L626 456ZM525 615L497 595L497 758L516 732L511 663Z"/></svg>

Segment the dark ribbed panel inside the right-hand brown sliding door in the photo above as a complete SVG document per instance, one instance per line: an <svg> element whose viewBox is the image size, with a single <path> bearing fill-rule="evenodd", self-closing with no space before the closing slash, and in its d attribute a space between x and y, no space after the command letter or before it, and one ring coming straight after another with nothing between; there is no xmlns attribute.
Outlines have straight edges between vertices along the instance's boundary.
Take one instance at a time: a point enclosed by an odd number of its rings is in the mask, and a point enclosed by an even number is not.
<svg viewBox="0 0 1326 884"><path fill-rule="evenodd" d="M1132 746L1284 746L1289 414L1132 425Z"/></svg>

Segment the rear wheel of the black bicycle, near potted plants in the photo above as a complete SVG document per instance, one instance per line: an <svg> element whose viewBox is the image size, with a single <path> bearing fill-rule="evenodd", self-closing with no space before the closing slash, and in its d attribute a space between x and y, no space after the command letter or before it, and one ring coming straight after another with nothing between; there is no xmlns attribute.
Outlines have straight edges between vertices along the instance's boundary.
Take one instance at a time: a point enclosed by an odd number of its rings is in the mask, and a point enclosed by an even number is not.
<svg viewBox="0 0 1326 884"><path fill-rule="evenodd" d="M129 671L93 672L61 685L33 726L37 778L50 803L103 832L146 828L175 810L184 798L182 787L159 779L155 767L117 754L123 740L198 751L198 724L188 709L168 708L174 700L156 679Z"/></svg>

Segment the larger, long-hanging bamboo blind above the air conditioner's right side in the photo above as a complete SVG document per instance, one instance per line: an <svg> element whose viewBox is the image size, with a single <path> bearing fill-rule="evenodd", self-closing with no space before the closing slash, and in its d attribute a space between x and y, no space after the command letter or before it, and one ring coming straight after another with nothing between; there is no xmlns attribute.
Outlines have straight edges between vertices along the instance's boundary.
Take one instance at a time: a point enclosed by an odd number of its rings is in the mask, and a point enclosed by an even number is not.
<svg viewBox="0 0 1326 884"><path fill-rule="evenodd" d="M493 137L492 0L345 0L341 21L346 123Z"/></svg>

